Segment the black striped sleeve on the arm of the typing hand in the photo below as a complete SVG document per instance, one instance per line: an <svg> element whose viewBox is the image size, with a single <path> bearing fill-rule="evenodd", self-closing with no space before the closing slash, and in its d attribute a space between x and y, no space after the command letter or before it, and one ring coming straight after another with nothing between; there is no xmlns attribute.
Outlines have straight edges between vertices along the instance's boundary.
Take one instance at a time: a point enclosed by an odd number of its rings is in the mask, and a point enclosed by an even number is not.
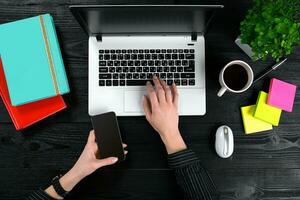
<svg viewBox="0 0 300 200"><path fill-rule="evenodd" d="M192 150L185 149L170 154L168 162L170 168L175 172L177 183L185 199L218 199L218 192L211 177Z"/></svg>

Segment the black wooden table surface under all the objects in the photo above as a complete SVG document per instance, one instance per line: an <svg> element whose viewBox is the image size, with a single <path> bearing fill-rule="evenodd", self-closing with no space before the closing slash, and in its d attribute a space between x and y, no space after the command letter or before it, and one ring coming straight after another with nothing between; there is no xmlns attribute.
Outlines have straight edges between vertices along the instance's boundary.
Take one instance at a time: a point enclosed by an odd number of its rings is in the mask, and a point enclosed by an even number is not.
<svg viewBox="0 0 300 200"><path fill-rule="evenodd" d="M82 151L92 128L88 111L87 35L69 12L71 4L180 4L199 1L168 0L1 0L0 23L41 13L54 17L71 93L68 108L46 120L16 132L0 103L0 199L21 199L49 184L52 177L68 170ZM209 169L222 199L300 199L300 93L294 111L283 112L272 131L245 135L240 106L254 104L259 90L266 90L270 77L300 85L300 49L288 62L243 94L216 96L218 73L229 61L248 62L255 74L271 60L252 62L235 44L239 22L251 1L227 0L206 36L207 114L181 117L182 135ZM22 37L22 33L20 33ZM1 45L1 44L0 44ZM74 199L181 199L175 178L168 169L164 147L144 117L119 118L124 141L129 145L126 162L97 171L74 189ZM235 152L220 159L214 152L214 133L227 124L234 131Z"/></svg>

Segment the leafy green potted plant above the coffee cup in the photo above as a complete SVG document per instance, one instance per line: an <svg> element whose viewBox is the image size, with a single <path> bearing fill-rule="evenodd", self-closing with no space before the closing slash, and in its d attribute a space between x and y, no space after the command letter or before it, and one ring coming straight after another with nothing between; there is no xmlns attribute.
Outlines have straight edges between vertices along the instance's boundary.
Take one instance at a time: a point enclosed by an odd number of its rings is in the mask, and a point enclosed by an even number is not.
<svg viewBox="0 0 300 200"><path fill-rule="evenodd" d="M236 43L254 60L271 56L278 62L300 44L300 1L254 0L253 3L240 24L241 35Z"/></svg>

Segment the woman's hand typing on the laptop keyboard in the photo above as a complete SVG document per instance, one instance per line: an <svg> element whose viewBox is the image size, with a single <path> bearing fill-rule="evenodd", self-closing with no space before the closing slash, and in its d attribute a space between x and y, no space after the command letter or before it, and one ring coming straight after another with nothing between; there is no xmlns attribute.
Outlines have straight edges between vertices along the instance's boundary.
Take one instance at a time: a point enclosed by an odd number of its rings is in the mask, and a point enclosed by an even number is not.
<svg viewBox="0 0 300 200"><path fill-rule="evenodd" d="M178 129L178 91L173 83L171 88L165 81L153 77L155 88L147 83L148 96L143 105L146 119L159 133L169 154L186 149Z"/></svg>

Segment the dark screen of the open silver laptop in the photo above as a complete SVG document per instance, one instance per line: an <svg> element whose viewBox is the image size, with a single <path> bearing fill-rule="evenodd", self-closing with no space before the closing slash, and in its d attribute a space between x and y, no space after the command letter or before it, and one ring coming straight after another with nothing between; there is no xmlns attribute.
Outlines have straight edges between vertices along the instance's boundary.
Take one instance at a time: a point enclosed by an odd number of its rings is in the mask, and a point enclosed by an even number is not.
<svg viewBox="0 0 300 200"><path fill-rule="evenodd" d="M215 8L221 5L71 6L89 35L204 33Z"/></svg>

